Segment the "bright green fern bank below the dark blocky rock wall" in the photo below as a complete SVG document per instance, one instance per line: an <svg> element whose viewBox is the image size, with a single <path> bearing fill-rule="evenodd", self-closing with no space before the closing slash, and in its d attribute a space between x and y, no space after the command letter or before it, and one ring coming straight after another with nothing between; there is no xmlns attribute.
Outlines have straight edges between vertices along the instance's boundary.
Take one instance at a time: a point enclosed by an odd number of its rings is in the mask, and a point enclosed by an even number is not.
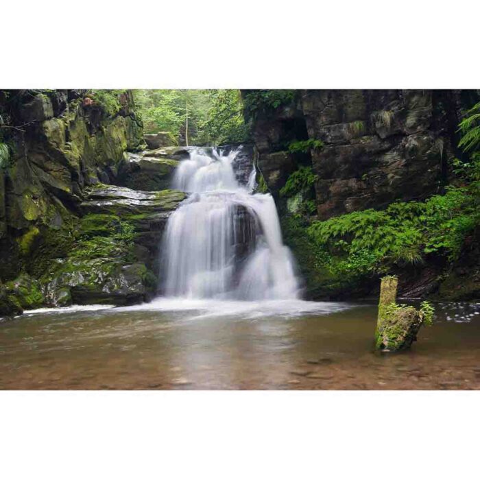
<svg viewBox="0 0 480 480"><path fill-rule="evenodd" d="M396 202L385 211L369 209L315 221L308 234L324 250L324 266L335 276L357 278L422 262L431 253L454 261L479 224L478 197L466 188L451 187L426 202Z"/></svg>

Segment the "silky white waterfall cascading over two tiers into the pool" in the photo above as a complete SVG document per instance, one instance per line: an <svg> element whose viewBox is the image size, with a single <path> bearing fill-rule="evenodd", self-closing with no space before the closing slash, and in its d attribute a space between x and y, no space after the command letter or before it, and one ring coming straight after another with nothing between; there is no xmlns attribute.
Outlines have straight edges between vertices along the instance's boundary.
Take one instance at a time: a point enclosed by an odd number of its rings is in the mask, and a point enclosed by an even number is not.
<svg viewBox="0 0 480 480"><path fill-rule="evenodd" d="M169 217L161 263L163 295L219 300L298 298L298 280L270 194L252 193L255 170L242 185L229 154L193 149L173 188L189 193Z"/></svg>

